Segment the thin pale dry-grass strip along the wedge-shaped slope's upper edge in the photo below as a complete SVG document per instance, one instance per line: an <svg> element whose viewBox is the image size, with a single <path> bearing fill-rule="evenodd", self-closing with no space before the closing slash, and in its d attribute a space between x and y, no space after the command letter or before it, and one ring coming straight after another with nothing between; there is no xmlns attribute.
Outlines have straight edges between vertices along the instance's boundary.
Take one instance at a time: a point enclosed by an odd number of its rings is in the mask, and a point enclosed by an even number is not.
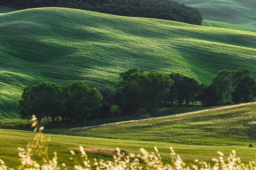
<svg viewBox="0 0 256 170"><path fill-rule="evenodd" d="M237 104L237 105L233 105L233 106L225 106L225 107L219 107L219 108L214 108L214 109L205 109L205 110L200 110L200 111L195 111L195 112L163 116L163 117L157 117L157 118L122 121L122 122L116 122L116 123L111 123L111 124L102 124L102 125L90 126L90 127L79 127L79 128L70 129L70 131L79 132L79 131L83 131L83 130L90 130L93 128L114 127L114 126L119 126L119 125L124 125L124 124L134 124L134 123L145 123L145 122L150 122L150 121L159 121L159 120L164 120L164 119L179 118L179 117L183 117L183 116L187 116L187 115L200 115L200 114L209 113L209 112L221 112L223 110L237 109L237 108L241 108L241 107L252 107L252 106L256 106L256 102L247 103L247 104Z"/></svg>

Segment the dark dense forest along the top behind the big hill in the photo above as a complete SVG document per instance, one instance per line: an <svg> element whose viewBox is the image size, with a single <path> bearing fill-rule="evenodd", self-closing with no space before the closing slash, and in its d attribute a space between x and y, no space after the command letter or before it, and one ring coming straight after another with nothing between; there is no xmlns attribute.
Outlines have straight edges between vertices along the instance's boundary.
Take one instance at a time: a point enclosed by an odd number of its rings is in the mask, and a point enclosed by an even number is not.
<svg viewBox="0 0 256 170"><path fill-rule="evenodd" d="M128 17L148 17L202 25L198 9L171 0L2 0L18 9L66 7Z"/></svg>

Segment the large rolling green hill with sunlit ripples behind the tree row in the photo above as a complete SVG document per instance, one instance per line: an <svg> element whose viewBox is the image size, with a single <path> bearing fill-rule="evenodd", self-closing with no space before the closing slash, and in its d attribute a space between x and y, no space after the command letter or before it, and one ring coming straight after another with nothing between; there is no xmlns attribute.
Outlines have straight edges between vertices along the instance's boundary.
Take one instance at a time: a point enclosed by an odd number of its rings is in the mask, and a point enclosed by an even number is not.
<svg viewBox="0 0 256 170"><path fill-rule="evenodd" d="M1 82L14 87L0 90L3 115L17 115L22 88L40 81L115 85L135 66L205 83L220 69L256 75L255 32L64 8L0 14L0 30Z"/></svg>

